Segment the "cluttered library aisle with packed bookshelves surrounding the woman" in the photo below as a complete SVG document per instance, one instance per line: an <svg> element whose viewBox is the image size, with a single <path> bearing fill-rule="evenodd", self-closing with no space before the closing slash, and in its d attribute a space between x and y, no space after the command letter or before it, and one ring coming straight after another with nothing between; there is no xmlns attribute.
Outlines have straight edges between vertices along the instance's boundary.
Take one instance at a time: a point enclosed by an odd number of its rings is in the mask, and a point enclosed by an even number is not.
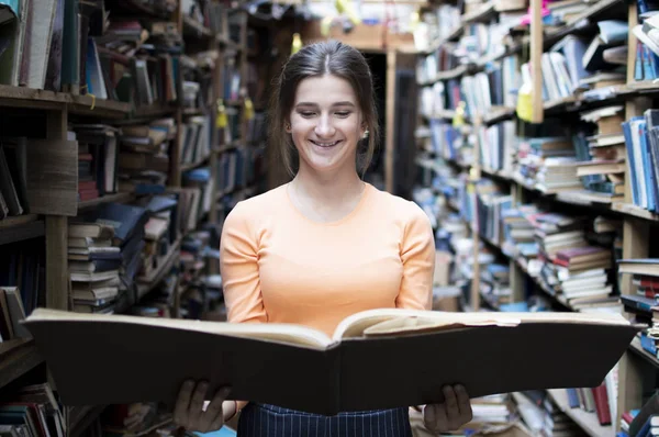
<svg viewBox="0 0 659 437"><path fill-rule="evenodd" d="M433 223L434 310L614 312L648 326L600 386L473 399L451 435L659 435L655 11L2 2L0 436L179 435L159 403L63 405L20 322L37 307L225 321L223 222L288 181L267 147L272 79L300 44L327 38L373 72L382 135L365 179ZM431 435L410 413L415 437Z"/></svg>

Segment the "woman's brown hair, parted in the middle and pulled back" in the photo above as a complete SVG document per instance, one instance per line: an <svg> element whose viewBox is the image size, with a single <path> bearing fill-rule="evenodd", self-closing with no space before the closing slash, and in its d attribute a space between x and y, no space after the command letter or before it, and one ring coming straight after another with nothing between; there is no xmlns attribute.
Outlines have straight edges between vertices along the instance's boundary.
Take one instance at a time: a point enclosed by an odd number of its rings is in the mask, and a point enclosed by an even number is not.
<svg viewBox="0 0 659 437"><path fill-rule="evenodd" d="M290 173L297 172L297 149L284 130L295 101L298 85L309 77L334 75L347 80L357 96L364 122L369 131L357 146L357 171L367 170L373 157L380 127L375 101L373 80L366 58L356 48L338 41L314 43L302 47L283 65L275 81L269 111L269 141Z"/></svg>

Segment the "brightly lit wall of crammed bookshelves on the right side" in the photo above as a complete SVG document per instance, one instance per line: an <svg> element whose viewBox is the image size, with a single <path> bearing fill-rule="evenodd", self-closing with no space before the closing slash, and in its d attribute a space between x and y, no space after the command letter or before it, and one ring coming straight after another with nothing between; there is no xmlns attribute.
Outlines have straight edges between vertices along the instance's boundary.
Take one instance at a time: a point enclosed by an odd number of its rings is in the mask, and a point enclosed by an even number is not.
<svg viewBox="0 0 659 437"><path fill-rule="evenodd" d="M532 7L440 3L421 15L431 43L417 55L415 199L450 261L435 294L462 311L616 312L646 323L601 386L506 403L529 435L646 435L638 422L659 414L648 413L659 370L657 5L548 1L540 23ZM526 116L534 75L539 123Z"/></svg>

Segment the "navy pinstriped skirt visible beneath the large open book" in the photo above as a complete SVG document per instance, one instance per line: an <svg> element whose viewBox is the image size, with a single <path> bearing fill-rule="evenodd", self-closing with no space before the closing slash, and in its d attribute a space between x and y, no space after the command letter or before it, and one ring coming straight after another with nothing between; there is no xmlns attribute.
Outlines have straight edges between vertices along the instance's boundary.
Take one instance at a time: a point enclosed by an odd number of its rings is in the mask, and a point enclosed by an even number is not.
<svg viewBox="0 0 659 437"><path fill-rule="evenodd" d="M412 437L407 408L323 416L269 404L248 403L238 437Z"/></svg>

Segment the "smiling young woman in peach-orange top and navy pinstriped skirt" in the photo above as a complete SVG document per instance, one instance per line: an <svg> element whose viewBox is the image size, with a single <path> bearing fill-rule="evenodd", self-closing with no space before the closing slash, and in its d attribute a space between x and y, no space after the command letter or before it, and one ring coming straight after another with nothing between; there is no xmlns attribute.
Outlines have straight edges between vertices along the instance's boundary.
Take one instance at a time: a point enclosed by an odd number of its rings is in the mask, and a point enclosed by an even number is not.
<svg viewBox="0 0 659 437"><path fill-rule="evenodd" d="M292 181L239 202L225 220L221 272L230 322L283 322L332 335L346 316L377 307L429 310L433 229L414 203L365 183L378 138L371 72L355 48L317 43L291 56L270 109L270 146ZM238 411L238 436L411 436L406 407L337 416L226 401L202 411L206 385L183 384L175 421L219 429ZM462 386L426 405L434 432L471 419ZM291 427L291 425L293 425ZM287 430L288 426L288 430Z"/></svg>

